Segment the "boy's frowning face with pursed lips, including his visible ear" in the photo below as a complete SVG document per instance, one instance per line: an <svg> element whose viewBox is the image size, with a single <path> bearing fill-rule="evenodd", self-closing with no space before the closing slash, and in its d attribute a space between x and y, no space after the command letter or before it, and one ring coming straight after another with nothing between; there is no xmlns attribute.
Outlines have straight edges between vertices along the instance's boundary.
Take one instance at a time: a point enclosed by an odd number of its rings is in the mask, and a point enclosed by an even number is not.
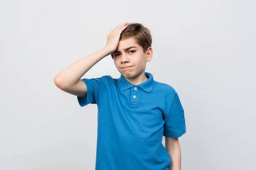
<svg viewBox="0 0 256 170"><path fill-rule="evenodd" d="M116 51L112 56L117 70L124 77L132 79L145 72L146 62L151 61L153 50L149 47L143 53L143 48L137 44L134 37L129 37L119 41Z"/></svg>

